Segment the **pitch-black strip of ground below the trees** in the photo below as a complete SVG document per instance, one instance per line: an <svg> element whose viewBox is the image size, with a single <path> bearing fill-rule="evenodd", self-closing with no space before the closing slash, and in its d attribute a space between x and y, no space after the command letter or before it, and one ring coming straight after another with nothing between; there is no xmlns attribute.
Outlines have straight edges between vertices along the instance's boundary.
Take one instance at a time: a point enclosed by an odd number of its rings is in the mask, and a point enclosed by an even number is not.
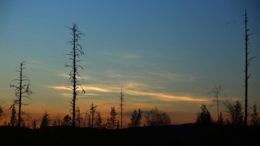
<svg viewBox="0 0 260 146"><path fill-rule="evenodd" d="M97 130L73 127L21 129L0 127L1 144L14 145L255 145L260 126L168 125ZM0 145L1 145L0 144Z"/></svg>

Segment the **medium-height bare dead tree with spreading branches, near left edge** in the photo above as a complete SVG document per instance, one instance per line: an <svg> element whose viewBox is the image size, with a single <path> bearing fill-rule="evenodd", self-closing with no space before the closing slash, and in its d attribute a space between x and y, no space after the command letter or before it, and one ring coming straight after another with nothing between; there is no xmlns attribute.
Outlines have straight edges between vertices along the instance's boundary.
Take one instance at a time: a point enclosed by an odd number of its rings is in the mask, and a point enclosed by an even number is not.
<svg viewBox="0 0 260 146"><path fill-rule="evenodd" d="M29 96L32 94L32 91L29 89L29 86L31 86L29 77L23 74L23 70L25 69L24 65L25 62L20 63L20 68L17 70L19 77L18 79L12 80L18 82L18 85L10 84L10 87L14 88L14 95L16 96L13 105L18 105L18 127L21 127L21 106L28 105L23 104L22 99L23 97L31 99Z"/></svg>

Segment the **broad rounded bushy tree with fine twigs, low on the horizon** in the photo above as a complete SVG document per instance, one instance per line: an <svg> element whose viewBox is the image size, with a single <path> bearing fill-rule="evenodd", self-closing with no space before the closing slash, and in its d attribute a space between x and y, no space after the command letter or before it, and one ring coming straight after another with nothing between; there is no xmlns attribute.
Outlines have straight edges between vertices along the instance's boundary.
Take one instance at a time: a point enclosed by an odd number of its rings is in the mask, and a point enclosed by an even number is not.
<svg viewBox="0 0 260 146"><path fill-rule="evenodd" d="M170 125L170 116L166 112L161 112L155 107L147 112L146 122L147 125L150 126Z"/></svg>

